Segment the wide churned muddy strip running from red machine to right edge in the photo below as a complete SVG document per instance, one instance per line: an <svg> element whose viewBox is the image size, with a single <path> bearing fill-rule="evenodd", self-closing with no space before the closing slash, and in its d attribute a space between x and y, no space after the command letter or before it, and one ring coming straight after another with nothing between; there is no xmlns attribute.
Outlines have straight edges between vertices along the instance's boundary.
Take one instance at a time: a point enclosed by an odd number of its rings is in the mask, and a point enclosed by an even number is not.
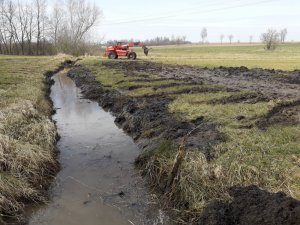
<svg viewBox="0 0 300 225"><path fill-rule="evenodd" d="M165 65L153 62L114 61L105 66L127 71L158 74L168 79L189 79L196 83L220 84L239 90L257 91L270 98L300 97L300 71L219 67L213 69Z"/></svg>

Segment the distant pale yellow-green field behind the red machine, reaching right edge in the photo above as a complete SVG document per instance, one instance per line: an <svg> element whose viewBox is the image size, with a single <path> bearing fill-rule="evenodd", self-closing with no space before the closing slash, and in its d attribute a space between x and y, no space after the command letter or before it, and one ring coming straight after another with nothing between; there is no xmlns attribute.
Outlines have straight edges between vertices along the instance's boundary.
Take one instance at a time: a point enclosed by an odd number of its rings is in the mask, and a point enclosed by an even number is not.
<svg viewBox="0 0 300 225"><path fill-rule="evenodd" d="M300 43L266 51L261 44L179 45L152 47L148 57L136 48L139 59L201 67L246 66L268 69L300 69Z"/></svg>

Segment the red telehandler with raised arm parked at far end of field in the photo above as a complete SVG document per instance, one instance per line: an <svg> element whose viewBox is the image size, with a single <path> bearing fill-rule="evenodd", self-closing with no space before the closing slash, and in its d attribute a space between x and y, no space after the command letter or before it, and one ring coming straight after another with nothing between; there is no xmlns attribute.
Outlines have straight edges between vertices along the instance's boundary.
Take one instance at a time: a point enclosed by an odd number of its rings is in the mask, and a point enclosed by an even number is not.
<svg viewBox="0 0 300 225"><path fill-rule="evenodd" d="M149 48L147 48L142 42L130 42L128 44L117 43L116 45L109 46L105 49L105 55L109 59L117 59L119 56L127 56L128 59L136 59L136 53L130 50L130 47L140 46L144 50L144 54L147 56Z"/></svg>

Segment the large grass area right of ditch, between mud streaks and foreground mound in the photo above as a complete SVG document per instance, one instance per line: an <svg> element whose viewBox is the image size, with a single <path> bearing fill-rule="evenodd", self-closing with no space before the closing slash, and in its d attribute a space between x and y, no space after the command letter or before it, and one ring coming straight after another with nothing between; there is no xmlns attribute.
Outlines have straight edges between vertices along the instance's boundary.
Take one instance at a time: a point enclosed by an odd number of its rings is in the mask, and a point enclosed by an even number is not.
<svg viewBox="0 0 300 225"><path fill-rule="evenodd" d="M274 101L209 104L213 99L240 94L243 92L183 94L178 95L169 105L172 113L180 112L183 115L181 120L191 121L204 117L217 124L217 129L226 138L226 141L212 146L215 159L209 163L202 153L187 156L183 168L187 179L183 179L181 185L186 192L193 193L189 201L195 207L200 207L197 202L203 198L221 198L220 190L225 191L233 185L255 184L272 192L284 191L300 198L300 179L294 178L299 172L300 126L258 129L255 122L276 105ZM244 119L238 120L238 116ZM201 172L217 176L218 179L210 180ZM203 194L192 190L191 185L210 190L207 190L208 194Z"/></svg>

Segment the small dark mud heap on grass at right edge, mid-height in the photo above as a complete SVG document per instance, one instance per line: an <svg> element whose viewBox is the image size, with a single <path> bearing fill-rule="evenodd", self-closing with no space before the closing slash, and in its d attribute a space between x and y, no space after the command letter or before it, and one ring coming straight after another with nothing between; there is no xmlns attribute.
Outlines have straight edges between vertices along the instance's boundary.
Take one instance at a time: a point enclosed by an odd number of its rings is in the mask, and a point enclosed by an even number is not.
<svg viewBox="0 0 300 225"><path fill-rule="evenodd" d="M267 115L257 122L257 126L266 129L272 125L296 125L300 123L300 99L283 102L273 107Z"/></svg>

